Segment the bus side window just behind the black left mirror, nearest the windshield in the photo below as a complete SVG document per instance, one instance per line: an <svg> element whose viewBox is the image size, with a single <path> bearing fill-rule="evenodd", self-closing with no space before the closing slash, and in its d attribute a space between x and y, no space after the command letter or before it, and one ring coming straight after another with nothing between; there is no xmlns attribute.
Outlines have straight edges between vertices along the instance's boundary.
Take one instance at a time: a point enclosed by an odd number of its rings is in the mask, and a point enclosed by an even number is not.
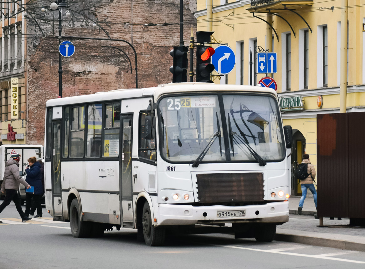
<svg viewBox="0 0 365 269"><path fill-rule="evenodd" d="M139 113L139 133L138 133L138 156L150 161L156 160L155 138L146 139L146 117L151 116L151 112L143 111Z"/></svg>

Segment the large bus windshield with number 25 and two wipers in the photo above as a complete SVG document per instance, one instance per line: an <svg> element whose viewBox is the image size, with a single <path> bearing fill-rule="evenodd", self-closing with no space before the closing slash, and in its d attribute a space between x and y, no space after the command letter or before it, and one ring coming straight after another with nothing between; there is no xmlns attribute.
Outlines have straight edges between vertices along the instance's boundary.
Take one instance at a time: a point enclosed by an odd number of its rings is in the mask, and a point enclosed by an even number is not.
<svg viewBox="0 0 365 269"><path fill-rule="evenodd" d="M167 161L265 165L285 156L278 106L270 95L170 96L159 109L160 152Z"/></svg>

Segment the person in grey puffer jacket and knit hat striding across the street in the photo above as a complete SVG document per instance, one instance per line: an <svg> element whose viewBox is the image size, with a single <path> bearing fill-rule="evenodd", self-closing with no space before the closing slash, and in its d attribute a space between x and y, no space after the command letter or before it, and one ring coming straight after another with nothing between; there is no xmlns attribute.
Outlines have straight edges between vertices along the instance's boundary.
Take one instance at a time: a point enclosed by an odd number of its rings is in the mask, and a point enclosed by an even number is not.
<svg viewBox="0 0 365 269"><path fill-rule="evenodd" d="M27 217L20 204L20 197L18 195L19 183L22 183L26 188L30 188L30 185L19 175L19 160L20 154L14 153L11 155L10 159L5 163L4 179L3 185L1 186L1 192L5 194L5 199L2 204L0 204L0 213L7 207L11 200L15 203L16 210L22 221L29 221L31 218ZM0 221L1 223L2 221Z"/></svg>

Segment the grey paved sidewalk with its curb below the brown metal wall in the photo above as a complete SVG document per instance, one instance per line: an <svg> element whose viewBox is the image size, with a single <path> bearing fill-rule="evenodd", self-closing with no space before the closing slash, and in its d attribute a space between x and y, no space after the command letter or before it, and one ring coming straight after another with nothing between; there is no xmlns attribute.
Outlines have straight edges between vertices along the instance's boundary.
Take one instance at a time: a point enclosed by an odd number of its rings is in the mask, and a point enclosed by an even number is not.
<svg viewBox="0 0 365 269"><path fill-rule="evenodd" d="M350 227L346 218L324 218L324 227L318 227L313 196L307 194L301 216L299 200L300 196L289 198L289 222L277 226L275 240L365 252L365 227Z"/></svg>

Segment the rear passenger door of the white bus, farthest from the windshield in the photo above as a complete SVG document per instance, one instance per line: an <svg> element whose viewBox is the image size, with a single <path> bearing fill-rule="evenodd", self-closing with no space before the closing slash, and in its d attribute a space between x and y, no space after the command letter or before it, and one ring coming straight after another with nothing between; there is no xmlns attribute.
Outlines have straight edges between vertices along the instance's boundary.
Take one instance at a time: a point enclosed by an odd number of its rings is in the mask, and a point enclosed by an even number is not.
<svg viewBox="0 0 365 269"><path fill-rule="evenodd" d="M61 121L52 122L51 167L52 167L52 196L54 219L63 220L62 191L61 191ZM57 217L56 217L57 216Z"/></svg>

